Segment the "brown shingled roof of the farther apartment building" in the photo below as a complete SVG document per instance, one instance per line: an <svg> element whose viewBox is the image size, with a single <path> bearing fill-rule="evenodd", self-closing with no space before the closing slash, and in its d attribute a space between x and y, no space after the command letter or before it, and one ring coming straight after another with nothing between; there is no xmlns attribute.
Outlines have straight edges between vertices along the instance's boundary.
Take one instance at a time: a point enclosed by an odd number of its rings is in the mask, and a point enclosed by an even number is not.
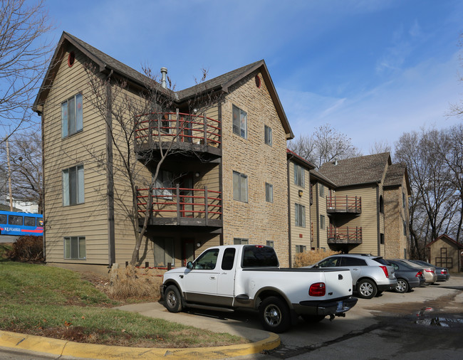
<svg viewBox="0 0 463 360"><path fill-rule="evenodd" d="M391 164L389 152L326 162L319 171L338 187L380 183L387 164Z"/></svg>

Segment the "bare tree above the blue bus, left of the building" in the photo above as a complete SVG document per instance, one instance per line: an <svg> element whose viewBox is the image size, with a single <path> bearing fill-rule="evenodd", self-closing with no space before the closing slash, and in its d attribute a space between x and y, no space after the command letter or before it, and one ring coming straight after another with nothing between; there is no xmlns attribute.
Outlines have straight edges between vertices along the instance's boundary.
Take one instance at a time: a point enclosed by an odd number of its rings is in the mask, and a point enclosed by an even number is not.
<svg viewBox="0 0 463 360"><path fill-rule="evenodd" d="M38 132L25 132L10 137L9 160L13 197L38 203L38 212L41 213L43 206L41 135ZM1 165L4 167L4 164Z"/></svg>

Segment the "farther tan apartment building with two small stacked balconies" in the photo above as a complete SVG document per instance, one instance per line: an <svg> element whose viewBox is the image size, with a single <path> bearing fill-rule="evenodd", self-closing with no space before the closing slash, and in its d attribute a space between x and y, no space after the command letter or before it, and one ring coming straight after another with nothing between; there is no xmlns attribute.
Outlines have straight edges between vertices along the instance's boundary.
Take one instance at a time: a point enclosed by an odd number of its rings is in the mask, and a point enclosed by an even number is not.
<svg viewBox="0 0 463 360"><path fill-rule="evenodd" d="M296 169L296 157L288 155L289 167ZM404 165L392 164L389 153L335 160L318 170L301 158L297 164L305 165L310 176L310 210L306 210L310 225L306 221L306 228L311 229L311 238L301 250L319 248L407 258L410 184ZM292 204L296 196L291 194L296 194L298 187L291 178L290 234L294 245L301 243L294 235L301 220L291 210L291 206L297 206Z"/></svg>

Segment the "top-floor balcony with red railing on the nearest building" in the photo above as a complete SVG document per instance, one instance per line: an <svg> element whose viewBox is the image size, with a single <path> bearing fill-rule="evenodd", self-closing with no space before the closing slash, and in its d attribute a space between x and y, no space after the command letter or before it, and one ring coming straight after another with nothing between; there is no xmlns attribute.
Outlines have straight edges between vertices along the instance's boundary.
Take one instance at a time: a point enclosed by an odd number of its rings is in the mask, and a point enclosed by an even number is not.
<svg viewBox="0 0 463 360"><path fill-rule="evenodd" d="M221 155L219 120L182 112L151 112L135 117L135 151L170 149Z"/></svg>

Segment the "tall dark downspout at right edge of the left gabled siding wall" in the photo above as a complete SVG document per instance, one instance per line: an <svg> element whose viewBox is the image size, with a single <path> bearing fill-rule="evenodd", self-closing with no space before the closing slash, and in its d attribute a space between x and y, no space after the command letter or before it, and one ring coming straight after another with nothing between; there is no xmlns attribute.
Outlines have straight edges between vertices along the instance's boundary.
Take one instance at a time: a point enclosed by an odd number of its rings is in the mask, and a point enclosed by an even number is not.
<svg viewBox="0 0 463 360"><path fill-rule="evenodd" d="M108 185L108 268L115 263L115 226L114 226L114 169L113 169L113 117L111 115L112 95L111 75L113 70L106 78L106 181Z"/></svg>

